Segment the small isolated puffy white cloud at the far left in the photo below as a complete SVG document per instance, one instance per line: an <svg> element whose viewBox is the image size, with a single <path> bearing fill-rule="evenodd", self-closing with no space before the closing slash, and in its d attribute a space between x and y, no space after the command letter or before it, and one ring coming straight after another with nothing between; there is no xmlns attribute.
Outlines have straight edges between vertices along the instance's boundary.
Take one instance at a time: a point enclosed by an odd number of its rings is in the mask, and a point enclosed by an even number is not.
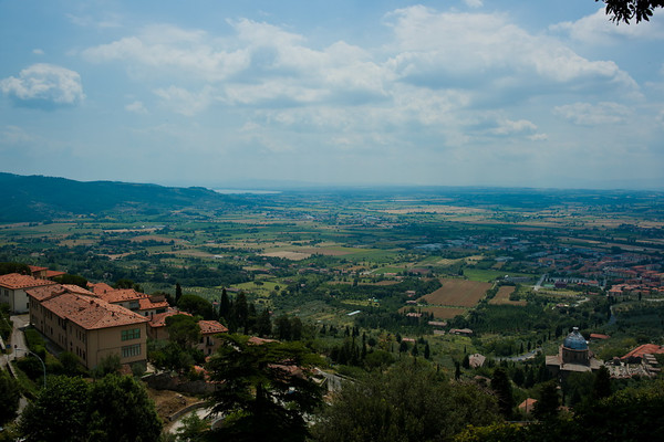
<svg viewBox="0 0 664 442"><path fill-rule="evenodd" d="M85 98L77 72L45 63L24 69L18 77L1 80L0 90L24 105L71 106Z"/></svg>

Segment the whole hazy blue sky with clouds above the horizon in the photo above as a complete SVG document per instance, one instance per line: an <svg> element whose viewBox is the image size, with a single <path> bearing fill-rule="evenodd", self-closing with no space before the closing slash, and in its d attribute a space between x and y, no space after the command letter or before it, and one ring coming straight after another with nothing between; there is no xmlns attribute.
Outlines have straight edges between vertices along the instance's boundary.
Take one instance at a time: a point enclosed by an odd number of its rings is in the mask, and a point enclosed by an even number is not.
<svg viewBox="0 0 664 442"><path fill-rule="evenodd" d="M0 0L0 171L664 189L664 10Z"/></svg>

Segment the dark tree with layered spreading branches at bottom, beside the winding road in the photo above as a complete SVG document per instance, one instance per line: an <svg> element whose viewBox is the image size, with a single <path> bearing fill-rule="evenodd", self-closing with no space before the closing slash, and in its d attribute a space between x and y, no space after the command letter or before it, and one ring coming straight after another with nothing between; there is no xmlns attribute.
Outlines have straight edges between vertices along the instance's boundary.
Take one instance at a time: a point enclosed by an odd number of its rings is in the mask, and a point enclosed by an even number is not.
<svg viewBox="0 0 664 442"><path fill-rule="evenodd" d="M208 362L219 388L210 396L225 423L220 440L304 441L304 420L321 403L321 388L309 371L320 362L298 343L252 344L247 336L221 336L222 346Z"/></svg>

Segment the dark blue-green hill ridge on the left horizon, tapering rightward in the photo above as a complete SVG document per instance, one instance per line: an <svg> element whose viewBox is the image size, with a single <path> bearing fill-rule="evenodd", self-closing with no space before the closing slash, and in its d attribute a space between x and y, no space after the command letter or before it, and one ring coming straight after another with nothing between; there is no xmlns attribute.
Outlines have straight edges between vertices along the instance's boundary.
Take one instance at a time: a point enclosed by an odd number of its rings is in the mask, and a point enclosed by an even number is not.
<svg viewBox="0 0 664 442"><path fill-rule="evenodd" d="M0 172L0 222L44 221L118 211L159 213L188 208L214 211L246 203L237 197L200 187L83 182Z"/></svg>

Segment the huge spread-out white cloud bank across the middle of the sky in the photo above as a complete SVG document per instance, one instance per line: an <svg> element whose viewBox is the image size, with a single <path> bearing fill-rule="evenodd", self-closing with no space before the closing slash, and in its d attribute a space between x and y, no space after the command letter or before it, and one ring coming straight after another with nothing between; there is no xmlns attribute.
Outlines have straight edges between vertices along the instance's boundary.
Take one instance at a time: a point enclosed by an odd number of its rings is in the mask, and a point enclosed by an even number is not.
<svg viewBox="0 0 664 442"><path fill-rule="evenodd" d="M300 149L302 141L281 138L288 130L310 130L325 138L322 145L338 139L347 148L544 140L535 116L506 109L560 92L639 88L614 62L581 56L506 14L401 9L385 17L393 39L366 49L345 41L315 48L304 35L248 19L227 23L227 35L153 24L82 55L121 63L146 84L159 72L168 86L149 90L164 107L193 116L216 104L232 112L236 130L261 126L260 144L271 151ZM143 102L126 109L146 112ZM508 113L528 119L496 117Z"/></svg>

